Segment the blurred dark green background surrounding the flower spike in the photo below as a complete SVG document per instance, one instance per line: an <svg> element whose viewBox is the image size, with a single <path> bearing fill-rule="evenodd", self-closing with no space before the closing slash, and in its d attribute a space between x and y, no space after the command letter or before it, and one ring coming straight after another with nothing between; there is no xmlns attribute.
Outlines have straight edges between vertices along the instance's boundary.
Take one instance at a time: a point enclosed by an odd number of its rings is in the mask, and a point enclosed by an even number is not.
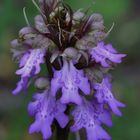
<svg viewBox="0 0 140 140"><path fill-rule="evenodd" d="M113 117L113 128L107 129L113 140L140 140L140 0L64 0L73 9L89 8L104 16L109 29L115 27L106 42L112 42L120 52L126 53L124 62L112 71L114 93L127 107L123 117ZM40 134L28 135L32 119L27 113L29 94L11 95L18 77L12 62L10 41L25 26L22 9L30 22L37 10L31 0L0 0L0 140L40 140ZM70 138L74 140L74 138Z"/></svg>

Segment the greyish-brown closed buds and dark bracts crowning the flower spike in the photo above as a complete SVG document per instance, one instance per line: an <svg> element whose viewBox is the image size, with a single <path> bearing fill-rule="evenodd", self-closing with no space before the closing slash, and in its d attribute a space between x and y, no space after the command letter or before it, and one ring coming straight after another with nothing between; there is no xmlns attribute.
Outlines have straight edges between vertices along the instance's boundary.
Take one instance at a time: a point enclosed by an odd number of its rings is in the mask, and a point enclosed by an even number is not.
<svg viewBox="0 0 140 140"><path fill-rule="evenodd" d="M48 42L43 40L48 39L49 43L51 40L51 45L60 52L65 51L70 46L78 47L81 50L81 43L76 45L76 42L84 36L94 38L92 41L95 44L105 37L103 18L100 14L87 16L81 11L73 12L70 6L62 0L39 0L39 3L41 13L35 17L35 26L24 27L19 32L18 44L16 45L26 46L22 47L23 49L40 48ZM78 13L81 15L80 18L76 17ZM54 49L52 47L49 49L53 53ZM15 49L13 52L14 55L17 53L20 55Z"/></svg>

